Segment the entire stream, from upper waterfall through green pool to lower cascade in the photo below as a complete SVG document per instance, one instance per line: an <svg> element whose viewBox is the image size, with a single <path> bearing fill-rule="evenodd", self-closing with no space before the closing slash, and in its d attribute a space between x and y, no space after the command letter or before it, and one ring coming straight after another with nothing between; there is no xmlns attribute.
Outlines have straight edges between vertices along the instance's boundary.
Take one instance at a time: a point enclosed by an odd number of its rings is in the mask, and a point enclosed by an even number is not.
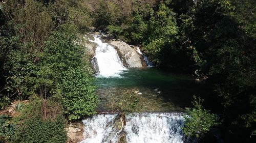
<svg viewBox="0 0 256 143"><path fill-rule="evenodd" d="M83 120L81 143L184 142L183 111L191 106L193 95L206 93L200 90L200 84L190 75L161 71L152 64L148 68L126 68L116 49L102 42L99 35L90 41L97 43L99 114ZM147 60L146 56L143 59ZM130 112L125 122L120 122L120 111Z"/></svg>

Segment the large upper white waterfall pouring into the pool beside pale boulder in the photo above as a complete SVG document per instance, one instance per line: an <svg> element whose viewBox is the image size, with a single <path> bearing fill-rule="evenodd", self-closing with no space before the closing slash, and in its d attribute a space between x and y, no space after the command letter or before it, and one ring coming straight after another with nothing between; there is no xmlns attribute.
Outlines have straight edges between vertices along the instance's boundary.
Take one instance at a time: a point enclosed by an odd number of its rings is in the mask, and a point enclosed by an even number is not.
<svg viewBox="0 0 256 143"><path fill-rule="evenodd" d="M95 58L97 59L99 73L102 77L119 77L120 73L126 68L123 66L116 49L108 43L100 40L100 35L94 35L94 41L97 43Z"/></svg>

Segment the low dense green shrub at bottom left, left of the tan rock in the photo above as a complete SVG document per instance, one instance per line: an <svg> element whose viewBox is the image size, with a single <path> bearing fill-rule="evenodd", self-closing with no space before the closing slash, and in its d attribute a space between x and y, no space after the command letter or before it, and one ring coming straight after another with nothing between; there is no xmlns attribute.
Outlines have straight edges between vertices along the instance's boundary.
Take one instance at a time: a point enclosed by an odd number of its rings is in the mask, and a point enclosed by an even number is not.
<svg viewBox="0 0 256 143"><path fill-rule="evenodd" d="M58 106L56 101L48 101L47 117L44 118L44 110L41 105L44 102L37 97L33 97L30 103L13 119L16 123L16 137L12 142L66 142L65 119L61 111L52 112ZM52 106L53 105L53 106ZM51 108L50 108L51 107ZM55 113L55 115L51 115Z"/></svg>

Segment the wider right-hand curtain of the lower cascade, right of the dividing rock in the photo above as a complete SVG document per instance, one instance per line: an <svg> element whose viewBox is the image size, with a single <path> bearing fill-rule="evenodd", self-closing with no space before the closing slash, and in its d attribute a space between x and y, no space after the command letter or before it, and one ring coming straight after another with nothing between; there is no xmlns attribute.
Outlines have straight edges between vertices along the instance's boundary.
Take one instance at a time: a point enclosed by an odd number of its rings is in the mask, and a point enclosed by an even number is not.
<svg viewBox="0 0 256 143"><path fill-rule="evenodd" d="M130 143L183 142L183 118L175 113L143 113L127 116L126 140Z"/></svg>

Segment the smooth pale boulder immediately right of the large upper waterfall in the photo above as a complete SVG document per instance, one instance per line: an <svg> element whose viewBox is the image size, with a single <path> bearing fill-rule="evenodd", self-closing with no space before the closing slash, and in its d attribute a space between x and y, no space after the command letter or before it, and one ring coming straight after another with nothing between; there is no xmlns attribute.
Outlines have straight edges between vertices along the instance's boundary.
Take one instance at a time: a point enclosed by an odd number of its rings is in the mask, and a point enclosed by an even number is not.
<svg viewBox="0 0 256 143"><path fill-rule="evenodd" d="M123 41L110 41L110 44L114 46L119 53L123 64L127 68L141 68L143 67L143 58L136 49L128 45Z"/></svg>

